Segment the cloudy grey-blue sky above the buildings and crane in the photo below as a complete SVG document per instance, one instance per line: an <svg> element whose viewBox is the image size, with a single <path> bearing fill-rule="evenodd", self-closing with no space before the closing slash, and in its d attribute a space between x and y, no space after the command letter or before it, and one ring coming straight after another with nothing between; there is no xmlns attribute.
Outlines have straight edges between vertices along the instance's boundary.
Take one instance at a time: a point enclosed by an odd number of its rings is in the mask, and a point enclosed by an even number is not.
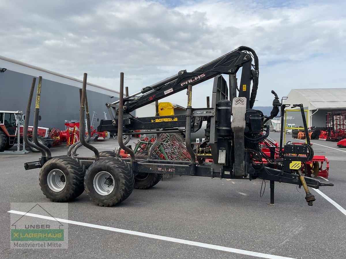
<svg viewBox="0 0 346 259"><path fill-rule="evenodd" d="M130 93L238 46L260 63L255 106L274 89L346 87L346 1L0 0L0 55ZM239 75L240 76L240 75ZM204 107L212 79L194 86ZM185 91L169 97L186 106Z"/></svg>

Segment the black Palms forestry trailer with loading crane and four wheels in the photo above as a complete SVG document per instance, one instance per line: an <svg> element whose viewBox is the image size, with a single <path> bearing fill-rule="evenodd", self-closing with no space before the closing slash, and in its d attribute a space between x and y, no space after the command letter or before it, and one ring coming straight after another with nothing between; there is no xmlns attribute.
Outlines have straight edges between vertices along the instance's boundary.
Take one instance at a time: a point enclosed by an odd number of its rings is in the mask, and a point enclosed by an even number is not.
<svg viewBox="0 0 346 259"><path fill-rule="evenodd" d="M240 68L242 72L238 88L236 74ZM229 76L229 90L222 74ZM287 105L283 105L272 91L274 100L270 116L253 109L258 89L258 76L257 55L253 49L244 46L192 72L181 70L178 74L145 87L136 94L130 96L126 94L126 97L124 97L124 73L120 73L119 101L106 104L111 119L101 120L98 126L99 132L109 131L118 135L117 151L99 153L95 147L81 139L81 143L70 147L67 156L52 158L42 152L40 160L25 163L25 168L42 167L41 189L47 198L57 202L72 200L85 188L94 203L101 206L115 205L125 200L134 187L150 188L160 180L160 174L169 173L220 179L269 180L271 203L274 203L274 182L298 184L303 186L306 192L305 199L311 206L315 196L310 193L309 186L315 189L320 186L333 186L331 183L320 182L303 175L301 163L311 161L313 157L311 145L283 145L283 127L281 127L280 161L261 163L263 154L260 143L269 135L269 126L265 125L265 122L277 116L279 108L281 116L284 116ZM86 77L84 74L81 124L84 124L84 110L87 109L87 122L89 114L86 102ZM214 78L211 105L207 102L206 108L192 108L192 89L195 85L211 78ZM188 95L186 115L143 118L131 115L131 112L137 108L186 89ZM205 141L201 143L197 153L194 153L191 147L191 132L198 131L202 122L206 122L207 125ZM306 125L304 127L306 128ZM81 129L84 129L84 125L81 125ZM139 130L140 134L157 134L156 141L145 157L143 154L142 157L136 157L126 146L130 135L138 134ZM158 160L153 150L159 142L161 133L184 134L191 161ZM123 135L127 136L125 142L122 139ZM80 145L92 150L95 156L77 156L76 148ZM119 158L121 148L129 153L129 159ZM212 163L205 162L205 159L210 157ZM275 160L274 154L273 157L268 157L268 160L271 159ZM59 182L61 180L65 181L64 184ZM69 188L66 189L67 185Z"/></svg>

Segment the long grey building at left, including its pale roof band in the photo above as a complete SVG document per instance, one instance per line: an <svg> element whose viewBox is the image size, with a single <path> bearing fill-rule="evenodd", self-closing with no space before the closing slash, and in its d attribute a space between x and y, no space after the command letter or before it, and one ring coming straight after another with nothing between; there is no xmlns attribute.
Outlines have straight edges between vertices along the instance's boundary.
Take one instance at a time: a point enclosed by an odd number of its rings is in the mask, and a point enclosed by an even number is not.
<svg viewBox="0 0 346 259"><path fill-rule="evenodd" d="M78 120L81 80L2 56L0 110L25 113L32 79L39 76L42 76L43 80L38 126L63 129L65 120ZM38 80L36 86L37 82ZM104 118L103 112L108 114L105 103L119 100L119 92L90 83L86 89L90 114L92 116L93 112L97 113L94 126L98 126L98 121ZM31 106L31 111L34 110L34 105L35 102ZM30 119L32 120L33 116Z"/></svg>

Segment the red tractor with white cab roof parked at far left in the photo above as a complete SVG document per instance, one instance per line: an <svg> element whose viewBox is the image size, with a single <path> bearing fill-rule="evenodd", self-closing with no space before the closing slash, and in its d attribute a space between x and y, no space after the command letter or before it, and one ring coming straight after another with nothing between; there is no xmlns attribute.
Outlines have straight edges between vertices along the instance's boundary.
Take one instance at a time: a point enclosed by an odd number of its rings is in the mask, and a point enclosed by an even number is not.
<svg viewBox="0 0 346 259"><path fill-rule="evenodd" d="M9 150L16 143L23 143L23 124L25 115L16 111L0 111L0 152ZM19 128L19 140L18 140ZM33 126L28 127L28 138L33 140ZM47 147L51 147L53 140L49 137L49 128L38 127L37 140ZM32 152L39 152L31 148Z"/></svg>

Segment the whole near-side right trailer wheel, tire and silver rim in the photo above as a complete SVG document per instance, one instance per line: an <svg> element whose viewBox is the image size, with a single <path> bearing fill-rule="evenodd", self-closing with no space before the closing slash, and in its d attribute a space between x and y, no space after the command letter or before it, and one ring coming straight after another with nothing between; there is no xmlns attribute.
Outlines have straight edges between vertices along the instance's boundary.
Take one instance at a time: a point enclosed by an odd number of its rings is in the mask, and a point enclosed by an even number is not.
<svg viewBox="0 0 346 259"><path fill-rule="evenodd" d="M128 198L135 178L130 166L119 158L94 162L84 176L85 192L99 206L110 207Z"/></svg>

